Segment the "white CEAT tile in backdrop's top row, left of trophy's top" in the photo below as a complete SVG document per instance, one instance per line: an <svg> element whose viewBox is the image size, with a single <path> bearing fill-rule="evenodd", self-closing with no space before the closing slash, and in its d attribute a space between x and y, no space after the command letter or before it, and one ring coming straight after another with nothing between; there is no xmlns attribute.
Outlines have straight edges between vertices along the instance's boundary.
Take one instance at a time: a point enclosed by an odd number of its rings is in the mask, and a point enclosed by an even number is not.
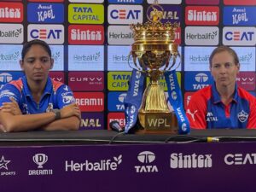
<svg viewBox="0 0 256 192"><path fill-rule="evenodd" d="M143 22L142 5L108 5L109 24L131 24Z"/></svg>

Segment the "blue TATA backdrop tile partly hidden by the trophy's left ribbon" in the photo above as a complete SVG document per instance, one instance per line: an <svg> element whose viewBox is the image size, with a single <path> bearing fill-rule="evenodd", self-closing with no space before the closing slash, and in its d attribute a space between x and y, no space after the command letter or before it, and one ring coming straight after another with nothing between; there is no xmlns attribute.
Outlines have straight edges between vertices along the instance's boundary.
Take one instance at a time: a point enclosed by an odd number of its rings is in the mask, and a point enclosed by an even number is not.
<svg viewBox="0 0 256 192"><path fill-rule="evenodd" d="M108 92L108 111L125 111L125 96L124 92Z"/></svg>

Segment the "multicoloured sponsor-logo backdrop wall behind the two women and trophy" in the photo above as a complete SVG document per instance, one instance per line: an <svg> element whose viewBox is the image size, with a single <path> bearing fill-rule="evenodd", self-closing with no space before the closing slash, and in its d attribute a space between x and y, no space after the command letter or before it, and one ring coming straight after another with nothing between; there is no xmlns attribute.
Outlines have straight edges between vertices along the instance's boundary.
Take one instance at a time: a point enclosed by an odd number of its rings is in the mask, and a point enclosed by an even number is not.
<svg viewBox="0 0 256 192"><path fill-rule="evenodd" d="M125 125L124 99L133 43L130 24L147 21L154 0L0 0L0 87L22 76L22 44L50 44L50 76L68 84L82 110L81 129ZM238 84L255 95L256 11L254 0L159 0L163 22L179 22L177 68L185 108L196 90L212 84L209 55L225 44L241 61ZM132 61L131 61L132 62ZM161 79L160 82L165 85ZM165 88L166 89L166 88Z"/></svg>

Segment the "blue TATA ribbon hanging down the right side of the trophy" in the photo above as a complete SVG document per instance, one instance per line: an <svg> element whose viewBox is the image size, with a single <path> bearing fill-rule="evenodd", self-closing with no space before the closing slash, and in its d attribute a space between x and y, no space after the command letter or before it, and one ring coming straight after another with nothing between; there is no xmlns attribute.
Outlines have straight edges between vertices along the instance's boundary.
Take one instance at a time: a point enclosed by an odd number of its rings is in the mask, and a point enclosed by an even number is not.
<svg viewBox="0 0 256 192"><path fill-rule="evenodd" d="M177 117L178 133L188 134L190 131L189 120L183 109L183 97L177 82L176 70L166 71L166 84L169 95L169 102Z"/></svg>

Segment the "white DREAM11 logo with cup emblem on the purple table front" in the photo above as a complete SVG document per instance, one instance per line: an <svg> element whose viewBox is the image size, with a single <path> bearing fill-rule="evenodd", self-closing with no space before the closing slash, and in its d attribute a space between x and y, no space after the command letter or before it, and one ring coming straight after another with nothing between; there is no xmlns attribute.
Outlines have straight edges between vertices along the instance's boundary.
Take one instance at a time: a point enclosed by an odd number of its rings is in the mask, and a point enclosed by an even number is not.
<svg viewBox="0 0 256 192"><path fill-rule="evenodd" d="M32 157L32 160L35 164L38 165L37 170L28 170L28 175L52 175L52 169L43 169L44 164L48 161L48 156L46 154L35 154Z"/></svg>

